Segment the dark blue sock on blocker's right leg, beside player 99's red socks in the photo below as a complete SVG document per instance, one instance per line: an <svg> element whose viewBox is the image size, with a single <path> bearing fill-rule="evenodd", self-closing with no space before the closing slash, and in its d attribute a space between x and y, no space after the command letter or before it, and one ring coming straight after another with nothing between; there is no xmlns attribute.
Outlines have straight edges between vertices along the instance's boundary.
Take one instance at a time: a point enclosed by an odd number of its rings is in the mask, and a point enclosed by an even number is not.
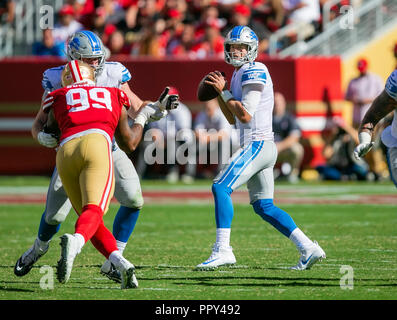
<svg viewBox="0 0 397 320"><path fill-rule="evenodd" d="M134 231L140 209L120 206L113 222L113 235L116 240L127 242Z"/></svg>

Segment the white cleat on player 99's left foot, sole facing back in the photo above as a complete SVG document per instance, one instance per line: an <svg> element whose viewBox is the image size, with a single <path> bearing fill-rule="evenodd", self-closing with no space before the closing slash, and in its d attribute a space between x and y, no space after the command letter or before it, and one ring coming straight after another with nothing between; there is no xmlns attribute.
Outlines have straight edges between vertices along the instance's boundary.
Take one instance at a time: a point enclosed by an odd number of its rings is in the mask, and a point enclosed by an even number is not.
<svg viewBox="0 0 397 320"><path fill-rule="evenodd" d="M68 282L73 268L73 262L80 253L78 239L72 234L64 234L61 237L61 258L57 265L57 279L61 283Z"/></svg>

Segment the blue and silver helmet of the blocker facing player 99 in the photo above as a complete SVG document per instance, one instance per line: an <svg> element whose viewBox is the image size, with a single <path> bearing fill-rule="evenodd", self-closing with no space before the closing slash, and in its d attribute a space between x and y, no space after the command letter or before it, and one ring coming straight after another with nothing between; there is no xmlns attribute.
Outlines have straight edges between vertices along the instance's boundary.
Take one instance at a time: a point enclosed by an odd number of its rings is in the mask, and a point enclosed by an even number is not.
<svg viewBox="0 0 397 320"><path fill-rule="evenodd" d="M93 65L97 74L103 70L106 51L101 39L91 31L78 31L74 33L67 45L68 61L98 58L98 64Z"/></svg>

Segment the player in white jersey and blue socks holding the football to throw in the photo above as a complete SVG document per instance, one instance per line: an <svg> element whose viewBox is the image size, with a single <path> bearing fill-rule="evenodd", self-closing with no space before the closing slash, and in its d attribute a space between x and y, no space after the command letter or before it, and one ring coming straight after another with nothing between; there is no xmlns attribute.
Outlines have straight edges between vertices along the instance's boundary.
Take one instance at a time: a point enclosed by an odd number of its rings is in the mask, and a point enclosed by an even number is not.
<svg viewBox="0 0 397 320"><path fill-rule="evenodd" d="M223 90L225 79L217 71L209 74L207 83L217 90L226 112L234 117L241 148L214 179L216 242L210 257L197 268L213 269L236 263L230 246L234 214L231 193L247 183L255 213L295 243L300 258L291 268L309 269L325 258L325 252L273 203L273 167L277 159L272 132L273 84L266 66L255 61L258 38L249 27L236 26L227 34L224 49L225 61L235 67L231 91ZM224 108L222 111L225 113Z"/></svg>

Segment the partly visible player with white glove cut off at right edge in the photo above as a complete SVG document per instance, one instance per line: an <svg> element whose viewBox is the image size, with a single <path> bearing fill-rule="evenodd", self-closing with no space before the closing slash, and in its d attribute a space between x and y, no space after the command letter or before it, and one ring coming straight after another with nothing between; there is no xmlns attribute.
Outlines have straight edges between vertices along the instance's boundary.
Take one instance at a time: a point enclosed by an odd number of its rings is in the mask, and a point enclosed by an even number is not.
<svg viewBox="0 0 397 320"><path fill-rule="evenodd" d="M359 144L354 149L354 156L359 159L371 150L374 142L372 133L380 120L390 112L394 112L393 121L387 126L381 135L383 144L387 147L387 164L390 178L397 187L397 70L386 81L385 89L372 102L372 105L361 121L358 138Z"/></svg>

